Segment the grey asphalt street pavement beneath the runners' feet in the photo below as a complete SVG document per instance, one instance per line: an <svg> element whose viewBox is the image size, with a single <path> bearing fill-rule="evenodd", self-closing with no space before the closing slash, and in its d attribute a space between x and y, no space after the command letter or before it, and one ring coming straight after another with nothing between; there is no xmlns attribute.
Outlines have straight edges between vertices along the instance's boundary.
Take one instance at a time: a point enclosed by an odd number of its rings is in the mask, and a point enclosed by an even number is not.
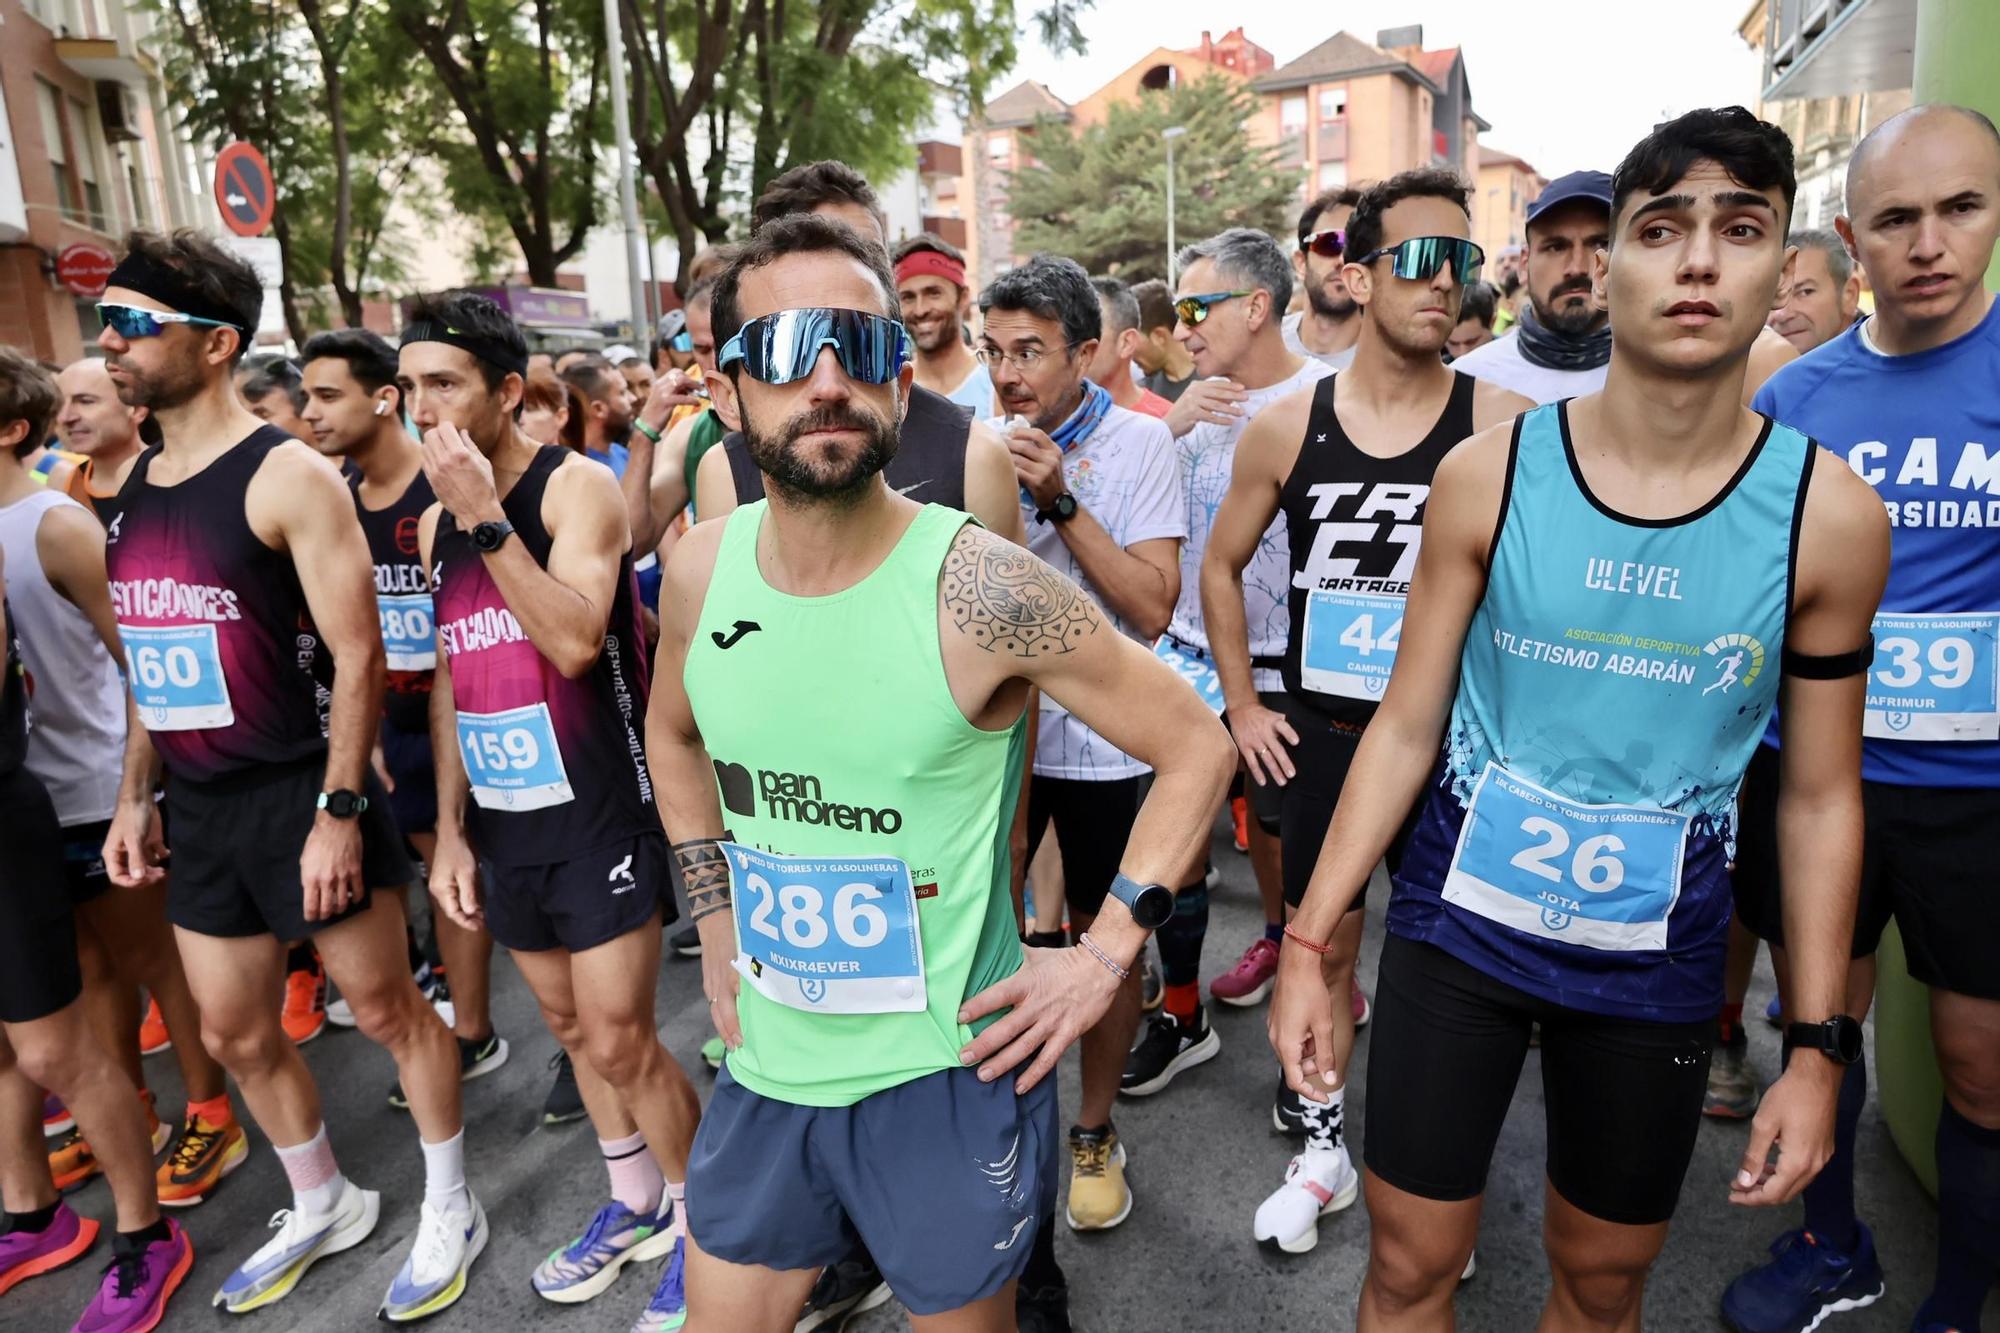
<svg viewBox="0 0 2000 1333"><path fill-rule="evenodd" d="M1222 887L1212 895L1214 919L1204 979L1234 963L1262 927L1248 861L1216 841ZM1372 991L1382 939L1386 883L1376 877L1368 899L1368 945L1362 983ZM492 1221L492 1243L472 1271L466 1297L430 1321L440 1331L516 1327L600 1329L622 1333L652 1293L656 1269L628 1271L590 1305L550 1305L534 1295L528 1273L570 1239L604 1197L604 1169L588 1123L540 1127L548 1061L556 1051L526 985L510 963L496 961L494 1019L512 1045L508 1065L466 1087L466 1179ZM1752 1013L1772 993L1770 969L1758 967ZM276 1003L276 997L272 997ZM668 1051L694 1071L704 1099L712 1081L700 1067L708 1037L700 967L668 957L660 967L658 1015ZM1320 1223L1320 1245L1308 1255L1278 1255L1250 1239L1258 1201L1278 1185L1290 1145L1270 1129L1276 1067L1264 1037L1264 1009L1218 1007L1222 1053L1184 1073L1166 1093L1120 1101L1116 1123L1132 1157L1136 1193L1132 1217L1116 1231L1076 1235L1058 1221L1056 1255L1070 1275L1080 1333L1124 1329L1266 1329L1352 1327L1354 1301L1368 1257L1366 1205ZM1756 1067L1778 1067L1776 1031L1750 1023ZM360 1329L372 1325L382 1293L402 1265L422 1199L422 1161L410 1119L386 1103L394 1067L354 1031L328 1029L312 1041L306 1061L326 1097L326 1121L342 1167L368 1189L382 1191L382 1225L358 1249L316 1267L300 1287L256 1315L236 1321L210 1309L208 1299L228 1271L258 1247L276 1209L290 1201L284 1173L268 1143L252 1129L252 1155L222 1191L180 1213L194 1237L196 1265L162 1329ZM1348 1133L1356 1157L1368 1131L1368 1031L1356 1051L1360 1077L1348 1093ZM172 1055L146 1061L160 1107L182 1105ZM1062 1065L1062 1103L1076 1107L1076 1055ZM1666 1253L1646 1293L1646 1329L1720 1329L1722 1285L1784 1227L1800 1225L1800 1207L1738 1209L1728 1203L1728 1179L1742 1155L1746 1125L1702 1125L1688 1169L1680 1211ZM1458 1295L1462 1329L1532 1329L1546 1293L1540 1245L1542 1219L1542 1081L1540 1057L1528 1053L1500 1139L1480 1227L1478 1277ZM1634 1145L1642 1151L1644 1145ZM1860 1127L1858 1199L1874 1227L1888 1295L1872 1309L1838 1315L1822 1325L1900 1331L1910 1327L1930 1285L1936 1253L1936 1211L1916 1177L1890 1145L1870 1089ZM94 1181L72 1203L110 1219L110 1195ZM1060 1211L1058 1211L1060 1219ZM68 1271L32 1279L0 1297L0 1331L66 1329L98 1281L108 1247ZM2000 1327L2000 1297L1986 1307L1988 1327ZM854 1333L906 1327L894 1303L858 1317Z"/></svg>

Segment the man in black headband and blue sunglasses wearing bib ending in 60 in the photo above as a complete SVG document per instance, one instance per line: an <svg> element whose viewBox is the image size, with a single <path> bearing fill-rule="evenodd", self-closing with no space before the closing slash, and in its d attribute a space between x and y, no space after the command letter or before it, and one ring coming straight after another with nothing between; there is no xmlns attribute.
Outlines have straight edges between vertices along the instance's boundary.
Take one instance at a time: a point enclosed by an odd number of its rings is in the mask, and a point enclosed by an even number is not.
<svg viewBox="0 0 2000 1333"><path fill-rule="evenodd" d="M376 1225L378 1195L334 1163L318 1089L270 1005L282 941L310 937L410 1093L424 1207L382 1313L416 1319L464 1293L486 1217L464 1183L458 1053L406 965L398 891L410 863L368 771L382 711L368 542L340 472L244 410L230 384L262 300L256 270L200 232L134 232L100 306L118 396L150 408L162 432L106 534L144 727L128 729L104 861L114 885L160 877L152 781L164 759L176 853L166 915L202 1037L292 1181L276 1235L216 1303L270 1305ZM340 666L326 733L300 640Z"/></svg>

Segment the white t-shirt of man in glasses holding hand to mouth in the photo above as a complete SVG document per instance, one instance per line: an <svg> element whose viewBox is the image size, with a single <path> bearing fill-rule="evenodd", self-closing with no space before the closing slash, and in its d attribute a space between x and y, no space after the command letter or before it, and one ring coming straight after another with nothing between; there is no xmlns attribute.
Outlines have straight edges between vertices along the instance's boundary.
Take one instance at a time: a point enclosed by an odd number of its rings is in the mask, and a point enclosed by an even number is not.
<svg viewBox="0 0 2000 1333"><path fill-rule="evenodd" d="M1006 420L990 424L1006 434ZM1188 534L1174 434L1156 416L1112 404L1090 438L1062 456L1062 476L1076 502L1088 508L1090 516L1120 546ZM1090 578L1070 552L1070 544L1062 540L1062 528L1054 522L1036 522L1034 500L1026 496L1022 496L1020 508L1028 524L1028 550L1082 584L1120 634L1146 642L1110 606L1104 606L1104 598L1090 586ZM1054 699L1048 695L1040 699L1042 731L1034 747L1034 771L1040 777L1102 783L1146 773L1146 765L1084 727Z"/></svg>

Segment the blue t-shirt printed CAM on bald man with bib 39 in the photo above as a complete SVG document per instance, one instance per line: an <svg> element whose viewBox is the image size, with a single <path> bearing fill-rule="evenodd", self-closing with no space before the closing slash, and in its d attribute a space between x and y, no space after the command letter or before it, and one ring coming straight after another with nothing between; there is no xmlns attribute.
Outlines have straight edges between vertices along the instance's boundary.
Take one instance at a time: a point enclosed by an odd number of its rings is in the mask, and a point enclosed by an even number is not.
<svg viewBox="0 0 2000 1333"><path fill-rule="evenodd" d="M1962 338L1908 356L1874 350L1862 328L1756 394L1760 412L1874 486L1894 526L1862 777L2000 787L2000 302Z"/></svg>

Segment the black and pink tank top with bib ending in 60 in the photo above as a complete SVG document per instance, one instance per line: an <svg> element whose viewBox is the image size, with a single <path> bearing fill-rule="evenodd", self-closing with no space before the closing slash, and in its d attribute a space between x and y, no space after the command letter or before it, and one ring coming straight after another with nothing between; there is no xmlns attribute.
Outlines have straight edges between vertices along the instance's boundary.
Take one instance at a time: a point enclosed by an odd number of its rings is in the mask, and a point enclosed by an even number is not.
<svg viewBox="0 0 2000 1333"><path fill-rule="evenodd" d="M324 753L318 634L298 568L250 530L250 478L284 430L260 426L174 486L132 464L104 532L112 612L140 721L174 777L210 781Z"/></svg>

